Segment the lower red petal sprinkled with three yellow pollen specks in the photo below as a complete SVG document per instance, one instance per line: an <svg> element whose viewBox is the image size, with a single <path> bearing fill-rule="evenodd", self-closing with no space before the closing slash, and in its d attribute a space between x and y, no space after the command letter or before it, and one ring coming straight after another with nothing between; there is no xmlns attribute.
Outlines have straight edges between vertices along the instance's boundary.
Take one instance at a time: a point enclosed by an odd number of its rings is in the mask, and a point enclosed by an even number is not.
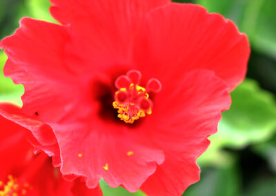
<svg viewBox="0 0 276 196"><path fill-rule="evenodd" d="M124 126L93 121L52 127L61 148L61 173L85 177L90 188L103 178L112 187L122 185L135 192L155 172L156 163L164 161L161 150L136 142Z"/></svg>

